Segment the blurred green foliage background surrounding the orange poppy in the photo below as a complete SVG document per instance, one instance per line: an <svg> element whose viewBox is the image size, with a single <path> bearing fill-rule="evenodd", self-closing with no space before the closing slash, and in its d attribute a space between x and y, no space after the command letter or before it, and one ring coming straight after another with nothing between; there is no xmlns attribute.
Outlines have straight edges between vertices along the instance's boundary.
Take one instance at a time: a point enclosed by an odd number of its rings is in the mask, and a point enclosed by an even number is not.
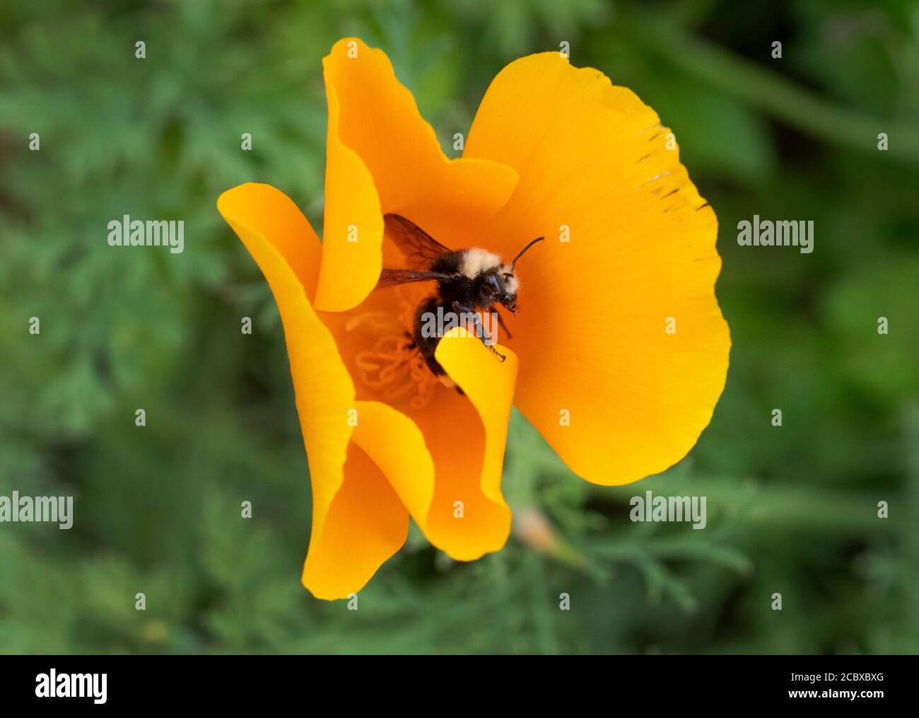
<svg viewBox="0 0 919 718"><path fill-rule="evenodd" d="M505 495L557 549L517 527L456 564L413 527L357 611L301 587L278 313L214 206L264 181L321 227L321 59L346 35L450 155L520 55L565 40L630 86L718 213L733 338L673 470L586 484L515 415ZM75 496L70 531L0 524L0 651L919 652L917 120L908 0L0 3L0 495ZM754 213L813 220L813 254L739 247ZM123 214L184 219L184 254L110 248ZM708 528L632 524L649 489L708 496Z"/></svg>

